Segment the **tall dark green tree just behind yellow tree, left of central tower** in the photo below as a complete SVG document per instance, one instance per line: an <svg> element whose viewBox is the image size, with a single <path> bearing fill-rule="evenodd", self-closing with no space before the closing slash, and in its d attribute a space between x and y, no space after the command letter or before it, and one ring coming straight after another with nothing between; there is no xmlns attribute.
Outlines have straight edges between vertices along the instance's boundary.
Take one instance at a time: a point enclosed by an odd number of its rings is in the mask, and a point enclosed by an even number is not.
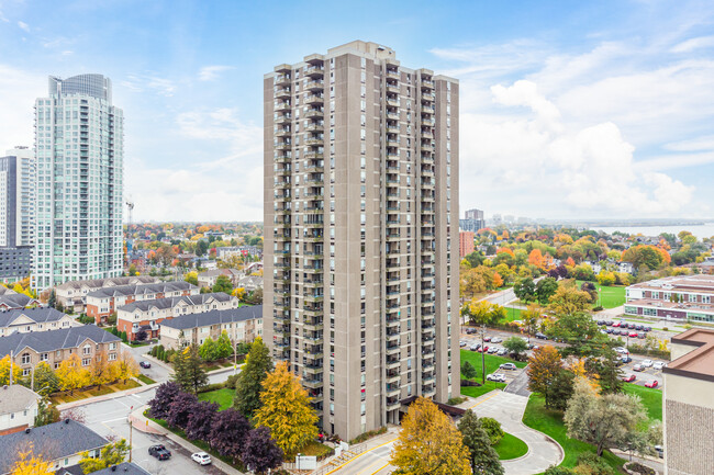
<svg viewBox="0 0 714 475"><path fill-rule="evenodd" d="M270 370L272 370L270 350L261 338L256 338L250 346L243 371L238 374L235 384L235 398L233 399L233 407L238 409L245 417L252 418L260 407L263 381Z"/></svg>

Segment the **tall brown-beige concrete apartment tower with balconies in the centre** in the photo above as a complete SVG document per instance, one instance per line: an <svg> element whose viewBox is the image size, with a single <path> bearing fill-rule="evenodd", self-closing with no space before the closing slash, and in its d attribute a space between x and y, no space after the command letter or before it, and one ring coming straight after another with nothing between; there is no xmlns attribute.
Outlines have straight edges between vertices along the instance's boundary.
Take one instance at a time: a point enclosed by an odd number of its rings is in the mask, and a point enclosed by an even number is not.
<svg viewBox="0 0 714 475"><path fill-rule="evenodd" d="M343 439L457 396L458 81L356 41L277 66L264 98L274 358Z"/></svg>

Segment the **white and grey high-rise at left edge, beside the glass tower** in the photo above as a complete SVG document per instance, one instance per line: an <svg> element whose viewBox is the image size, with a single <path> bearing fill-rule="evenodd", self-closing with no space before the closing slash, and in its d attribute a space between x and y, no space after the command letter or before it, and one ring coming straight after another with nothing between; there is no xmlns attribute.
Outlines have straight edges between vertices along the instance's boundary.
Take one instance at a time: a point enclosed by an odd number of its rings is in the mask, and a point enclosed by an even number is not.
<svg viewBox="0 0 714 475"><path fill-rule="evenodd" d="M0 281L30 275L35 225L35 157L27 147L0 157Z"/></svg>

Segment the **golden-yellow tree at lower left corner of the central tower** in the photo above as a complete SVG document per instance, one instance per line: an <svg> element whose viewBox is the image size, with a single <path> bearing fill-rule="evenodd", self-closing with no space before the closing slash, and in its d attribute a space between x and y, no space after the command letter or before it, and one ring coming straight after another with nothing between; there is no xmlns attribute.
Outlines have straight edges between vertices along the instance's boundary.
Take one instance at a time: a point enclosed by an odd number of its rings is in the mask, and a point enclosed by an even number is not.
<svg viewBox="0 0 714 475"><path fill-rule="evenodd" d="M294 455L317 436L317 415L310 406L308 392L282 361L263 381L256 427L270 429L270 437L288 455Z"/></svg>

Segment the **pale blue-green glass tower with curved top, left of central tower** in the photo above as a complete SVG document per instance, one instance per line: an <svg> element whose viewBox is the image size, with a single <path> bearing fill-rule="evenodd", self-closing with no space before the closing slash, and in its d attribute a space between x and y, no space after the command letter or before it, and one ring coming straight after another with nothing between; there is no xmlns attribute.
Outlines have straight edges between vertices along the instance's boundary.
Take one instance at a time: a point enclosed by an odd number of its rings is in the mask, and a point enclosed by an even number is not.
<svg viewBox="0 0 714 475"><path fill-rule="evenodd" d="M33 285L121 275L124 116L111 80L49 77L35 102L35 152Z"/></svg>

